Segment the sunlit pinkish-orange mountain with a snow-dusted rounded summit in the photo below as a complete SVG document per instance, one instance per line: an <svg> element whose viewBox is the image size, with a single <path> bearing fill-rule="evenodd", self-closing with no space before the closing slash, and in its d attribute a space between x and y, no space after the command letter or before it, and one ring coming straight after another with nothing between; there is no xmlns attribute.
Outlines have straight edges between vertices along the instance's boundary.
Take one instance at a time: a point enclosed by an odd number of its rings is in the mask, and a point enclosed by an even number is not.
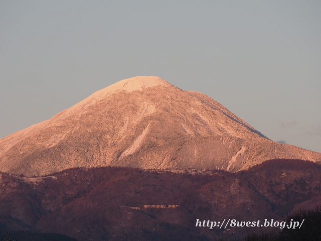
<svg viewBox="0 0 321 241"><path fill-rule="evenodd" d="M0 171L48 175L74 167L247 170L321 153L269 140L209 96L158 77L101 89L51 119L0 139Z"/></svg>

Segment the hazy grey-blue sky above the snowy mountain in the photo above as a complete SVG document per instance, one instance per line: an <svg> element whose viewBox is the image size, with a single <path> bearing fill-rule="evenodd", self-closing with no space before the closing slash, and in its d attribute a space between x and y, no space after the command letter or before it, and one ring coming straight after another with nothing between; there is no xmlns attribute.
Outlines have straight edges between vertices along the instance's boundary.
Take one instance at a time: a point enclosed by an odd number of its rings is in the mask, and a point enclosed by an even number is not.
<svg viewBox="0 0 321 241"><path fill-rule="evenodd" d="M321 152L321 1L0 0L0 138L158 76Z"/></svg>

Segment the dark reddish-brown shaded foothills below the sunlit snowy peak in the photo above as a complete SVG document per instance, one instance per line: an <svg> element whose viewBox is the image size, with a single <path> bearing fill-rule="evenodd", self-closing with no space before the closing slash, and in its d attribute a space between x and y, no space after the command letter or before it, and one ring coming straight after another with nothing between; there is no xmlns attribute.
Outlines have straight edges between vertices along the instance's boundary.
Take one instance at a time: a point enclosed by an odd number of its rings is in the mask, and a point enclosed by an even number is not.
<svg viewBox="0 0 321 241"><path fill-rule="evenodd" d="M0 173L0 230L56 233L49 240L240 240L272 228L210 229L196 226L196 220L279 223L293 209L320 204L320 176L321 165L302 160L268 160L238 173L119 167L73 168L36 178ZM319 224L301 227L311 228ZM70 239L54 239L59 233Z"/></svg>

